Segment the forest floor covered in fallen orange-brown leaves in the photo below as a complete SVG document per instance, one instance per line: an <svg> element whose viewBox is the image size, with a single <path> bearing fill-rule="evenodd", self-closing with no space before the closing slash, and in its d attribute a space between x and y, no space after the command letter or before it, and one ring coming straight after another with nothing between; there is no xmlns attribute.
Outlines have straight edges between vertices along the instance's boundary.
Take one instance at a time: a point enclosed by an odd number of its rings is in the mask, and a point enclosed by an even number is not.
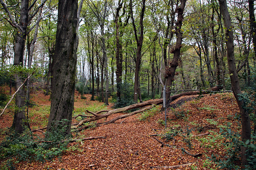
<svg viewBox="0 0 256 170"><path fill-rule="evenodd" d="M29 108L31 129L45 127L50 112L49 96L44 96L42 92L34 92L32 96L32 101L36 105ZM85 112L85 109L95 112L96 110L93 109L106 109L102 102L90 101L89 94L85 96L86 99L83 100L76 92L74 114ZM112 109L111 106L108 106L108 109ZM182 164L188 165L179 166L176 169L218 169L218 165L214 164L209 157L226 156L226 149L222 145L224 138L219 132L220 127L240 131L240 123L237 119L239 109L233 94L208 94L202 98L198 98L198 95L182 96L172 102L172 107L175 109L170 108L166 111L166 129L164 112L160 111L161 106L157 106L153 111L126 117L125 121L120 119L115 123L73 134L78 139L97 136L106 137L106 139L70 143L68 151L58 158L46 162L19 162L16 164L16 169L148 170L150 166ZM113 114L107 120L122 114L124 113ZM12 120L12 109L8 109L0 117L0 140L4 139L4 131L12 125ZM79 118L73 119L72 123L79 121ZM104 120L98 122L102 121ZM41 135L40 132L36 133ZM159 135L150 136L156 134ZM167 140L168 138L170 140ZM191 154L202 154L202 156L190 156L184 153L184 149Z"/></svg>

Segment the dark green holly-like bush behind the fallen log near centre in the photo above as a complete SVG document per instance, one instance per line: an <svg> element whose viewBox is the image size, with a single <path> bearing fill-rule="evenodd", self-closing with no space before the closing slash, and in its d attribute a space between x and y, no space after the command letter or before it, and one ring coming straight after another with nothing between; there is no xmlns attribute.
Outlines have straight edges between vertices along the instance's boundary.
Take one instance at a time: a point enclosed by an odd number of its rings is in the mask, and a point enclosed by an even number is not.
<svg viewBox="0 0 256 170"><path fill-rule="evenodd" d="M124 82L123 84L118 84L117 88L120 90L120 99L113 98L115 103L114 108L126 107L134 104L133 101L133 88L130 83Z"/></svg>

